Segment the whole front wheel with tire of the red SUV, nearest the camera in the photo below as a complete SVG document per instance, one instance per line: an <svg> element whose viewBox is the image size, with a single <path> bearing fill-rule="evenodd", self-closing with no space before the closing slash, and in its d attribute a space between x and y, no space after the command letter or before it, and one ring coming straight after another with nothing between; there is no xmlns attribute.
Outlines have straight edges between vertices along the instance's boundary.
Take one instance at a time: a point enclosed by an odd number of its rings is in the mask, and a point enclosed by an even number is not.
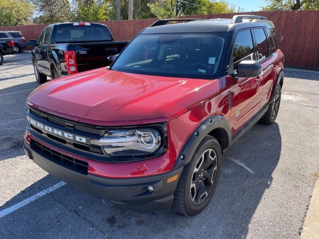
<svg viewBox="0 0 319 239"><path fill-rule="evenodd" d="M205 136L179 177L173 202L178 213L195 216L207 207L218 183L221 157L216 138Z"/></svg>

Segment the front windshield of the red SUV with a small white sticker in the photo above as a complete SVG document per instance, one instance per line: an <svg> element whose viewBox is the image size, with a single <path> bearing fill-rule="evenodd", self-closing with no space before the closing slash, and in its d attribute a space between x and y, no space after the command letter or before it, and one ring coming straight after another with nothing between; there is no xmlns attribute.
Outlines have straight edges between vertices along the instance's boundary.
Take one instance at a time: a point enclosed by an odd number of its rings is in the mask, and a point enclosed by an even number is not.
<svg viewBox="0 0 319 239"><path fill-rule="evenodd" d="M224 45L225 33L140 34L111 67L136 74L212 79Z"/></svg>

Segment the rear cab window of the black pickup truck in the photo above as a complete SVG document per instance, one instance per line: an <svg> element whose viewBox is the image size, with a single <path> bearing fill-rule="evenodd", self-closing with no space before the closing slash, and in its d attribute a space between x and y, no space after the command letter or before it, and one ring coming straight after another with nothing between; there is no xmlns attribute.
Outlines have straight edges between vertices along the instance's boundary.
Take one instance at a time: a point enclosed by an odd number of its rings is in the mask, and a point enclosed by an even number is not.
<svg viewBox="0 0 319 239"><path fill-rule="evenodd" d="M59 26L55 32L56 43L112 41L106 26Z"/></svg>

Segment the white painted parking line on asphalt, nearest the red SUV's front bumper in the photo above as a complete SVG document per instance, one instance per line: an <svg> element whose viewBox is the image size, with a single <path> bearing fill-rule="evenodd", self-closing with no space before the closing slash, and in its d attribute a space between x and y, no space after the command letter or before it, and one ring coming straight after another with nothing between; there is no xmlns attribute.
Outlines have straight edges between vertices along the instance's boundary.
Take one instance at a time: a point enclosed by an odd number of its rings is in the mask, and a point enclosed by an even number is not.
<svg viewBox="0 0 319 239"><path fill-rule="evenodd" d="M37 200L38 198L41 198L43 197L44 195L50 193L50 192L53 192L54 190L64 186L66 183L61 181L55 185L53 185L52 187L49 187L47 189L44 189L43 191L37 193L37 194L34 194L32 195L31 197L28 197L27 199L24 199L23 201L17 203L17 204L14 204L13 206L9 207L9 208L6 208L2 211L0 211L0 218L4 217L5 215L8 215L9 213L12 213L14 212L15 210L19 209L19 208L22 208L23 206Z"/></svg>

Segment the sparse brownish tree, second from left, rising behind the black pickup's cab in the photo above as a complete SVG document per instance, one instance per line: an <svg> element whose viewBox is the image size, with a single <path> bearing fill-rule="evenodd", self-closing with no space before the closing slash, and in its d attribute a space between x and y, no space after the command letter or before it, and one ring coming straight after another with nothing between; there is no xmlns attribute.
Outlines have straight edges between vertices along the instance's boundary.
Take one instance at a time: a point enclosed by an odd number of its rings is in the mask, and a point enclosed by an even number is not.
<svg viewBox="0 0 319 239"><path fill-rule="evenodd" d="M36 23L57 23L69 21L72 15L68 0L32 0L36 6Z"/></svg>

